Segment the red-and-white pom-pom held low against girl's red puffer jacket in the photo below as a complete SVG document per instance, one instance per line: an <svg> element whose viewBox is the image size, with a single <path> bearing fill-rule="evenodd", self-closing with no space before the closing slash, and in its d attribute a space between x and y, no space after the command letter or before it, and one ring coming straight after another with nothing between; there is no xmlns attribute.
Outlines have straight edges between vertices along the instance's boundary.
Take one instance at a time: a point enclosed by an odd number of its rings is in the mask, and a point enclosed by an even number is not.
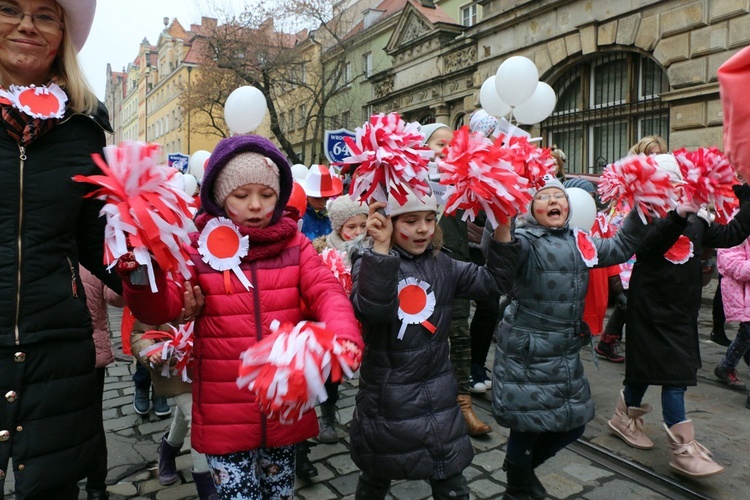
<svg viewBox="0 0 750 500"><path fill-rule="evenodd" d="M242 355L237 386L255 393L261 409L282 424L301 419L328 397L325 381L352 376L361 353L339 342L320 323L271 324L273 333Z"/></svg>

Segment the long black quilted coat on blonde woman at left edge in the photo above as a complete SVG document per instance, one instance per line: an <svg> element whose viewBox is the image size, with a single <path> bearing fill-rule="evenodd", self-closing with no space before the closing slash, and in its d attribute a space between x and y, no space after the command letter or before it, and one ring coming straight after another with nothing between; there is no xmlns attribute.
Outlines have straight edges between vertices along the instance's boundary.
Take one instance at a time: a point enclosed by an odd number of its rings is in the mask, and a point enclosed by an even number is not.
<svg viewBox="0 0 750 500"><path fill-rule="evenodd" d="M74 114L22 149L0 126L0 475L12 457L16 490L55 498L88 469L99 425L91 319L79 261L120 292L103 268L105 220L76 174L109 130ZM7 434L5 434L7 432ZM12 451L11 451L12 450Z"/></svg>

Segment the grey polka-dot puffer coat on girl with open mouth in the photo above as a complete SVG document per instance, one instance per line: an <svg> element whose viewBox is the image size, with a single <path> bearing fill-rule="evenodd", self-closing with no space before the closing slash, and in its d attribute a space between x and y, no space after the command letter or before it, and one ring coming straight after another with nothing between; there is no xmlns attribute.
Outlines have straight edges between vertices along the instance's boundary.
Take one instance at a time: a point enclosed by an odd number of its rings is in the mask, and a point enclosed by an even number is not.
<svg viewBox="0 0 750 500"><path fill-rule="evenodd" d="M664 230L674 241L682 227L684 222ZM626 261L648 230L633 211L614 238L591 238L596 267ZM528 222L515 238L521 260L511 304L497 331L493 414L500 425L520 432L575 429L594 418L579 357L589 342L581 317L590 268L567 224L550 229Z"/></svg>

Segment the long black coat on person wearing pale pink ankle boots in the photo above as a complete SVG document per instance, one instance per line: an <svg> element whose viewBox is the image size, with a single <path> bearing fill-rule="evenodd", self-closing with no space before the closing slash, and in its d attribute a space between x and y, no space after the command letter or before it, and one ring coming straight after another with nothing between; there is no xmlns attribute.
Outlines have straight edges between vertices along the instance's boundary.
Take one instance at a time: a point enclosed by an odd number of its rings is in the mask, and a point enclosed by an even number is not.
<svg viewBox="0 0 750 500"><path fill-rule="evenodd" d="M693 257L684 264L664 258L672 246L668 239L654 238L636 254L628 290L626 384L696 385L700 256L703 248L732 247L750 235L750 204L726 226L691 215L682 234L693 243Z"/></svg>

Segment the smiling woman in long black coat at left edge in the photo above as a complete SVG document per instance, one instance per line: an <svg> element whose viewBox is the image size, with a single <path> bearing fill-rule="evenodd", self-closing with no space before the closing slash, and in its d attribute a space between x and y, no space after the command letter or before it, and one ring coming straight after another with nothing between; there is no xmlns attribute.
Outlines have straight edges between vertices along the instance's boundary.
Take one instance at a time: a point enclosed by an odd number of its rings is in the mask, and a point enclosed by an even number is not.
<svg viewBox="0 0 750 500"><path fill-rule="evenodd" d="M111 131L78 63L95 8L0 3L0 488L12 461L19 499L77 499L99 460L103 380L79 263L121 285L102 265L102 203L72 180L98 173L91 154Z"/></svg>

